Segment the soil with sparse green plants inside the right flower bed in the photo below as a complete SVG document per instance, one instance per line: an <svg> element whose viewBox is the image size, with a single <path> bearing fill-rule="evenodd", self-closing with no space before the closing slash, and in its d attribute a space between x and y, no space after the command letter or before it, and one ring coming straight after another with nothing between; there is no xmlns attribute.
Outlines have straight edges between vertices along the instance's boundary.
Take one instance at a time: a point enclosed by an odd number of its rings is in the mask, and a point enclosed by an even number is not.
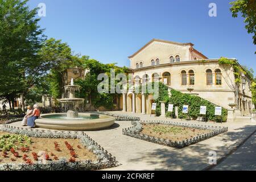
<svg viewBox="0 0 256 182"><path fill-rule="evenodd" d="M163 138L172 141L186 140L202 134L207 134L209 132L211 132L211 130L201 130L189 127L162 124L143 124L141 131L142 134L146 134L150 137Z"/></svg>

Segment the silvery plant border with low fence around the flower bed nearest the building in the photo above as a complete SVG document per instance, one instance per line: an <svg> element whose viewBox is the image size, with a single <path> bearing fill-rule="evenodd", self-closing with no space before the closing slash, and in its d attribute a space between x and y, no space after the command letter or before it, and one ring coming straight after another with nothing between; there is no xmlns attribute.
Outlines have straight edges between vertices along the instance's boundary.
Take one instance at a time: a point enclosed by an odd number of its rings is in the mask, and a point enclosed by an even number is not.
<svg viewBox="0 0 256 182"><path fill-rule="evenodd" d="M197 137L193 137L187 140L181 140L181 141L171 141L168 139L163 138L156 138L156 137L150 137L146 134L141 134L142 131L142 123L144 124L163 124L163 125L174 125L174 126L182 126L182 127L190 127L195 129L206 129L206 130L212 130L212 132L199 135ZM162 144L164 146L168 147L175 147L175 148L183 148L190 146L191 144L195 144L198 142L201 142L203 140L212 138L218 134L225 133L228 131L228 127L221 127L221 126L205 126L205 125L195 125L191 123L179 123L179 122L168 122L168 121L141 121L141 122L131 122L133 127L129 127L127 129L123 129L123 135L127 135L130 137L134 137L141 140L146 140L147 142Z"/></svg>

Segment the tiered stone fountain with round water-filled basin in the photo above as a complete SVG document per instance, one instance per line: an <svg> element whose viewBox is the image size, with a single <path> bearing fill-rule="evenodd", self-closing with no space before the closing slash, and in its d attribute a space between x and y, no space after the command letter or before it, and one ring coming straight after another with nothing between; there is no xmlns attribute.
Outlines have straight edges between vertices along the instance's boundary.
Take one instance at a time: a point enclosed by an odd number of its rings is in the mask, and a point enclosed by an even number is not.
<svg viewBox="0 0 256 182"><path fill-rule="evenodd" d="M61 106L68 109L67 113L42 114L41 118L36 119L37 127L53 130L99 130L110 127L114 124L115 118L109 115L79 113L84 105L83 98L76 98L75 92L79 91L80 86L74 85L73 78L71 85L64 86L68 98L61 98Z"/></svg>

